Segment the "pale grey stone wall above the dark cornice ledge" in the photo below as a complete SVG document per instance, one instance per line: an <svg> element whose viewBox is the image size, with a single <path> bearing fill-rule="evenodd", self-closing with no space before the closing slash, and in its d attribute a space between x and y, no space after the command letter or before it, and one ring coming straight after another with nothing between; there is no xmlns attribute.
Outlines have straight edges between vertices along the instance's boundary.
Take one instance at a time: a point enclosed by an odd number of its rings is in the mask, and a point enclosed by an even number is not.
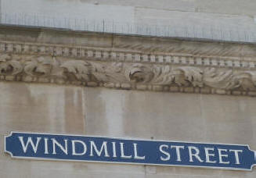
<svg viewBox="0 0 256 178"><path fill-rule="evenodd" d="M2 0L1 4L2 23L247 42L256 41L254 9L254 0Z"/></svg>

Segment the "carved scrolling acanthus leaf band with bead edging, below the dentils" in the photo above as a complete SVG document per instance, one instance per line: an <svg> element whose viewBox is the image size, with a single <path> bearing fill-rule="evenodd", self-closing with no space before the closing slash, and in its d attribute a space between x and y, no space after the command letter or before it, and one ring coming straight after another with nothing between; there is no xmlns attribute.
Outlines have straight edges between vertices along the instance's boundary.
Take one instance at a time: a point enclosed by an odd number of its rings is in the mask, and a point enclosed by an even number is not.
<svg viewBox="0 0 256 178"><path fill-rule="evenodd" d="M149 91L256 95L256 70L2 52L0 79Z"/></svg>

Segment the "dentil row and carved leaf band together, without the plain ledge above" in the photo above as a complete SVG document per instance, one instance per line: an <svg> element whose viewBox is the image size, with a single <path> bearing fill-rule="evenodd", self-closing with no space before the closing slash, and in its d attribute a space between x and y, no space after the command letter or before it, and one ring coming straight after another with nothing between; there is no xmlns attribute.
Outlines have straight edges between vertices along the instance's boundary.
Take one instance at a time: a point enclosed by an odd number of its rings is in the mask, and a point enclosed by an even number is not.
<svg viewBox="0 0 256 178"><path fill-rule="evenodd" d="M0 41L0 80L256 96L256 63L239 57Z"/></svg>

